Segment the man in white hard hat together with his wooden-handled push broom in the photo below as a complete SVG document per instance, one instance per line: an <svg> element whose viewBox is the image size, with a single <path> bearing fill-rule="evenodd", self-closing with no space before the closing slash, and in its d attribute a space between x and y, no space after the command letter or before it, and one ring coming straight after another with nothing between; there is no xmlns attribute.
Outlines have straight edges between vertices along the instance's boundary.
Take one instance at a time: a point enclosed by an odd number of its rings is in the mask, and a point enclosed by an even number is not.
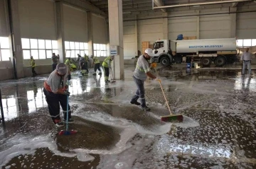
<svg viewBox="0 0 256 169"><path fill-rule="evenodd" d="M149 63L148 60L153 57L153 51L150 48L147 48L143 55L141 55L137 61L137 65L134 71L134 82L137 85L137 91L136 94L132 97L131 104L134 105L140 105L142 107L142 110L144 111L150 111L150 108L146 106L146 99L145 99L145 89L144 89L144 81L146 81L146 76L149 76L153 80L159 81L159 84L161 86L161 80L159 78L156 78L153 74L150 72ZM164 94L164 90L161 86L161 90ZM137 100L141 99L141 103L139 103ZM164 99L166 100L166 96L164 95ZM168 116L161 117L161 121L163 122L172 122L172 121L179 121L181 122L183 120L182 115L173 115L171 113L171 109L169 107L169 104L166 100L167 106L169 108L170 114Z"/></svg>

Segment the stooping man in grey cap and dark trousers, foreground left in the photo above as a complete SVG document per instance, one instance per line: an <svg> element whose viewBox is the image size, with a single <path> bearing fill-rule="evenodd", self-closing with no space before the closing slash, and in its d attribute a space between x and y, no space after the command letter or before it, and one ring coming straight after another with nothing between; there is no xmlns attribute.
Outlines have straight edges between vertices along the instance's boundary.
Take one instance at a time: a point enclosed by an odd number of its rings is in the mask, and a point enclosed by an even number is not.
<svg viewBox="0 0 256 169"><path fill-rule="evenodd" d="M46 95L46 102L48 104L50 117L57 127L63 127L64 124L60 120L60 105L63 109L64 122L74 122L71 119L70 105L68 105L67 97L70 93L67 91L67 81L70 81L70 72L68 66L63 63L57 64L55 71L53 71L43 84L43 93ZM68 107L68 108L67 108ZM67 112L68 113L65 113ZM67 115L68 114L68 115Z"/></svg>

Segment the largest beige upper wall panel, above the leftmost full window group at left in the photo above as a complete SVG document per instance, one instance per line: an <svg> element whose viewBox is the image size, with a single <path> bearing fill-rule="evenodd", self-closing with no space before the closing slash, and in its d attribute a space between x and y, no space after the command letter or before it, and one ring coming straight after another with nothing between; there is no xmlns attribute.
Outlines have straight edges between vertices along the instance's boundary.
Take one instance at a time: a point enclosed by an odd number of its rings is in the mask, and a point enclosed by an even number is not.
<svg viewBox="0 0 256 169"><path fill-rule="evenodd" d="M48 0L18 0L21 37L56 39L55 4Z"/></svg>

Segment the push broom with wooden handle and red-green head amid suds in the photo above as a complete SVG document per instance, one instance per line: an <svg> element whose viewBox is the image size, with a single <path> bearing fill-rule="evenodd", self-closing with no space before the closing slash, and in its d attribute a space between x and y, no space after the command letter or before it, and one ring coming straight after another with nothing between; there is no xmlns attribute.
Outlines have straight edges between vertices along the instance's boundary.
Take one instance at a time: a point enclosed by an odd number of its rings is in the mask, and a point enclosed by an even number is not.
<svg viewBox="0 0 256 169"><path fill-rule="evenodd" d="M163 92L163 95L164 95L164 99L166 100L166 105L169 109L169 112L170 112L170 115L166 115L166 116L161 116L161 121L162 122L182 122L183 121L183 115L174 115L172 112L171 112L171 109L170 109L170 106L167 102L167 99L166 99L166 96L164 94L164 89L163 87L161 86L161 81L159 81L159 84L160 84L160 87L161 87L161 91Z"/></svg>

